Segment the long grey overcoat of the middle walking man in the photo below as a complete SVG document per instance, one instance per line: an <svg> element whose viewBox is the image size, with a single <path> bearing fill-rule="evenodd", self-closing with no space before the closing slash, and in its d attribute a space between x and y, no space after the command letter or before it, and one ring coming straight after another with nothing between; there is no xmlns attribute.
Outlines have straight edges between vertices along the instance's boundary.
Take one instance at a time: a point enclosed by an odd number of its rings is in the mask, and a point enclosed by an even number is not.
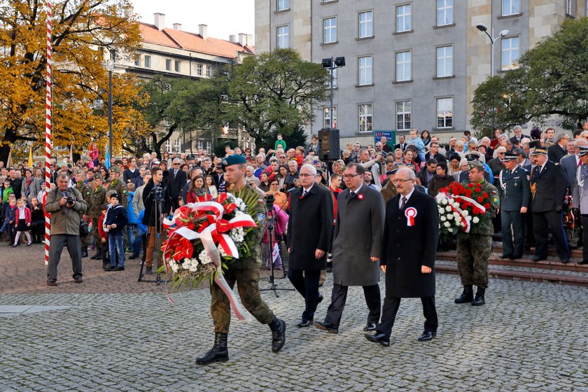
<svg viewBox="0 0 588 392"><path fill-rule="evenodd" d="M354 197L349 189L337 196L337 223L332 243L333 283L373 286L379 281L379 257L384 230L384 200L377 190L361 186Z"/></svg>

